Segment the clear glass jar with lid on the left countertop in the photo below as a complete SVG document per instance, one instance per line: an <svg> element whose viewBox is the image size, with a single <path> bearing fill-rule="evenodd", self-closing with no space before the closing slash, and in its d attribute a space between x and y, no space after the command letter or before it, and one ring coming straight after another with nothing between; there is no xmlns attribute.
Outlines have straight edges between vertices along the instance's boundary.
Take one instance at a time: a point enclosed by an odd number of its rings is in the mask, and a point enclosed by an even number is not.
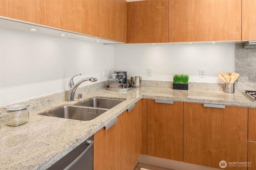
<svg viewBox="0 0 256 170"><path fill-rule="evenodd" d="M29 119L29 104L18 104L8 107L6 109L6 114L4 115L4 121L6 125L18 126L28 122Z"/></svg>

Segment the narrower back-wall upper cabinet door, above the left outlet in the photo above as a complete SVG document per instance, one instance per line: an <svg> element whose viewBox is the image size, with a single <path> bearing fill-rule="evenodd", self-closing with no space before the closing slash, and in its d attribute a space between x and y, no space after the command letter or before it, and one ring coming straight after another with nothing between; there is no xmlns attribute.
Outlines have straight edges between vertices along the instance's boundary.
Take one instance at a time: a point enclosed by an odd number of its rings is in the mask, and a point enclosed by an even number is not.
<svg viewBox="0 0 256 170"><path fill-rule="evenodd" d="M134 42L168 42L168 0L134 2Z"/></svg>

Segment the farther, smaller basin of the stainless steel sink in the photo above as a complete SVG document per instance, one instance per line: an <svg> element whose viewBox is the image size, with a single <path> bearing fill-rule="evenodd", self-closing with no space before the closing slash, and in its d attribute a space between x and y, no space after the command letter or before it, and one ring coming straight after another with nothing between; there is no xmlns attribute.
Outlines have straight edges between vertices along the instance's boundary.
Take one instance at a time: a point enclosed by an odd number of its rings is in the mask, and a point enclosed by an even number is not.
<svg viewBox="0 0 256 170"><path fill-rule="evenodd" d="M120 104L123 101L124 100L120 100L120 99L91 98L80 104L77 104L77 106L100 107L105 109L111 109L112 107Z"/></svg>

